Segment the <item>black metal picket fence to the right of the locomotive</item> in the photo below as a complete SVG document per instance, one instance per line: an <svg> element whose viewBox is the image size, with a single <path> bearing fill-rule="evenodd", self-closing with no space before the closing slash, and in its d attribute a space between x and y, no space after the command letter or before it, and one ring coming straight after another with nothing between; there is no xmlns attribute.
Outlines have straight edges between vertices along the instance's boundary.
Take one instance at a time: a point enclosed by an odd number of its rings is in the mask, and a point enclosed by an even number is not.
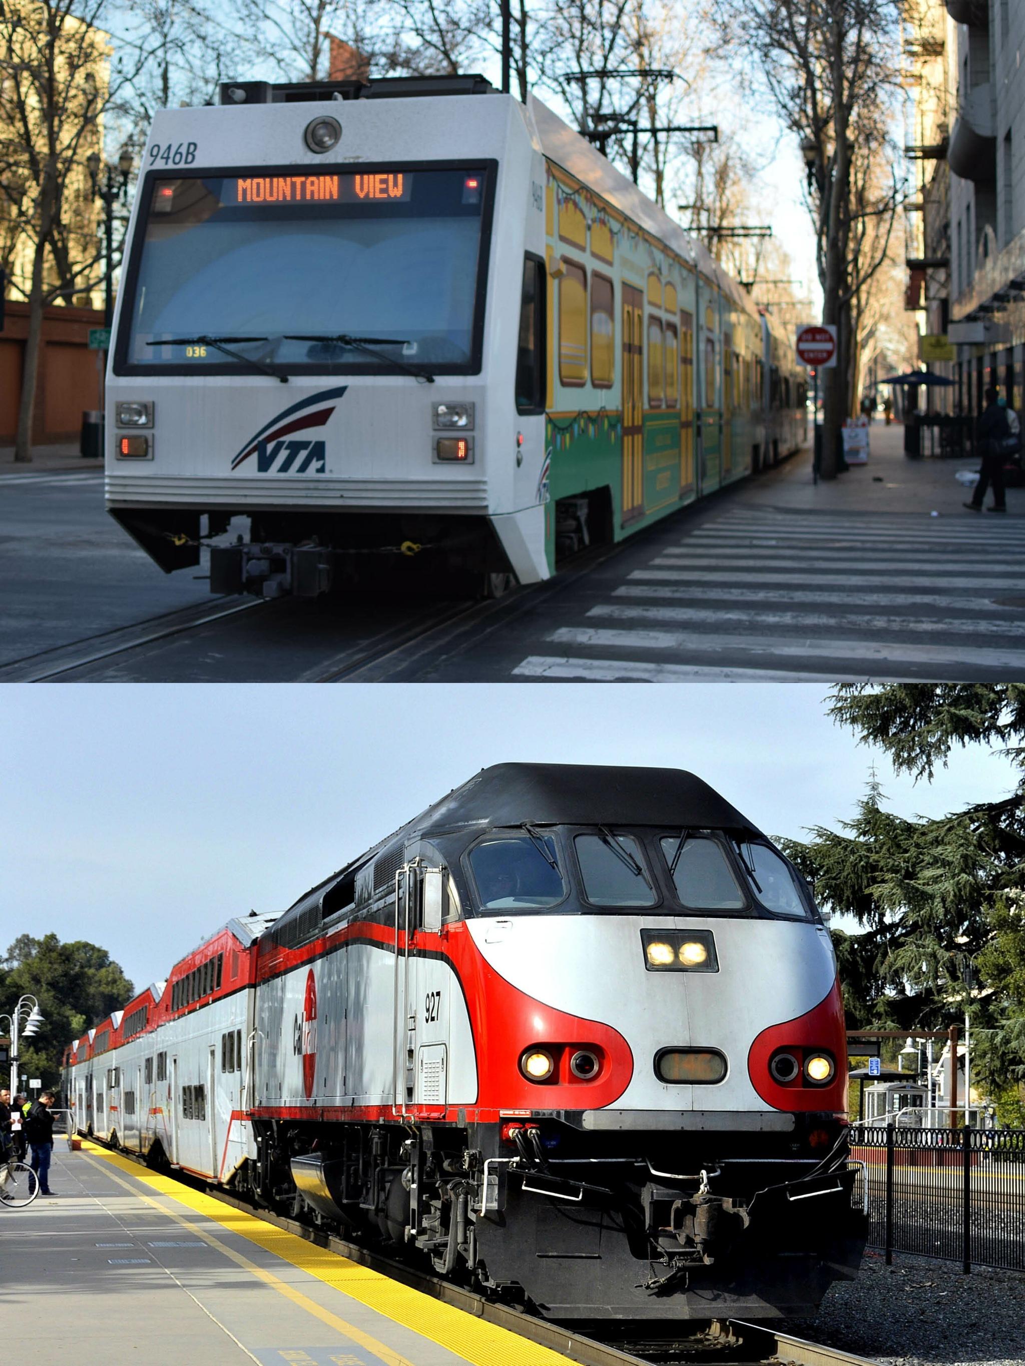
<svg viewBox="0 0 1025 1366"><path fill-rule="evenodd" d="M1025 1130L851 1126L869 1243L1025 1272Z"/></svg>

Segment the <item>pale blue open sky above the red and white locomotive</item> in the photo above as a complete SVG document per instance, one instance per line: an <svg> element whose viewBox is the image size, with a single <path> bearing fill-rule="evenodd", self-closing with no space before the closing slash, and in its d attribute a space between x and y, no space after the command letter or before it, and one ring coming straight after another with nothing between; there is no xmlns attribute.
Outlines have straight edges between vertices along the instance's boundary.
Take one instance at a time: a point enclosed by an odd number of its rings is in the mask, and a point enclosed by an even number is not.
<svg viewBox="0 0 1025 1366"><path fill-rule="evenodd" d="M686 768L797 839L853 814L873 761L902 816L1014 787L981 747L932 784L898 779L824 697L801 683L8 684L0 953L52 930L102 945L142 989L232 915L284 910L503 761Z"/></svg>

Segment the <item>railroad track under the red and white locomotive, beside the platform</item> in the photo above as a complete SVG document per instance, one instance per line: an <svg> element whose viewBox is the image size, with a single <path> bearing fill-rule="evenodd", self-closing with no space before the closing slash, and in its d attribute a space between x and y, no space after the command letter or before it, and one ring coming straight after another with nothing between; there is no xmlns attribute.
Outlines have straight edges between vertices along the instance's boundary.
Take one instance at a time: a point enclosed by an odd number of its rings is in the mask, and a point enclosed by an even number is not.
<svg viewBox="0 0 1025 1366"><path fill-rule="evenodd" d="M108 1143L97 1138L92 1138L89 1142L116 1152L120 1157L127 1157L139 1167L148 1165L146 1160L137 1153L109 1147ZM310 1228L295 1218L257 1209L206 1183L189 1182L175 1172L167 1175L180 1180L182 1184L200 1187L205 1195L223 1205L243 1210L246 1214L273 1224L305 1242L336 1253L347 1261L368 1266L381 1276L388 1276L411 1290L429 1295L432 1299L473 1314L474 1318L482 1318L485 1322L507 1328L529 1341L551 1347L552 1351L562 1352L571 1361L579 1362L581 1366L877 1366L868 1356L857 1356L835 1347L776 1332L764 1324L746 1324L735 1318L720 1320L716 1324L716 1335L700 1347L686 1340L674 1341L664 1335L644 1341L623 1339L619 1344L600 1341L571 1328L536 1318L517 1306L485 1299L476 1291L454 1285L428 1272L362 1247L359 1243L350 1243L335 1233L325 1233L323 1229Z"/></svg>

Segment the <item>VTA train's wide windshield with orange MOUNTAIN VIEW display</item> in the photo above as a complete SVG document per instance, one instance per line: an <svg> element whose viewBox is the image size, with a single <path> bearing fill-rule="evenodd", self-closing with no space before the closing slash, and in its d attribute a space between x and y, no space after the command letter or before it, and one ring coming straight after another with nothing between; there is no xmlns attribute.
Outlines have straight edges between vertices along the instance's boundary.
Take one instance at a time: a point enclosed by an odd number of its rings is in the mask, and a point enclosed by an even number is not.
<svg viewBox="0 0 1025 1366"><path fill-rule="evenodd" d="M130 370L480 365L487 168L161 176L144 193Z"/></svg>

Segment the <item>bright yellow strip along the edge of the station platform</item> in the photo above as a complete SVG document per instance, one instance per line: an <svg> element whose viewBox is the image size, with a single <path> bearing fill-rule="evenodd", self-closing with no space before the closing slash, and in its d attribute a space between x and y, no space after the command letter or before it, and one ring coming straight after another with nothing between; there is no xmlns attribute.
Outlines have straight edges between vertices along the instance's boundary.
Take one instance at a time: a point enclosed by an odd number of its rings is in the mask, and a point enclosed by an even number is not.
<svg viewBox="0 0 1025 1366"><path fill-rule="evenodd" d="M476 1318L452 1305L444 1305L422 1291L391 1280L369 1266L353 1262L347 1257L318 1247L316 1243L308 1243L295 1233L265 1223L256 1214L247 1214L231 1205L224 1205L221 1201L190 1190L171 1177L159 1176L105 1147L87 1142L82 1146L92 1156L134 1176L137 1182L149 1186L160 1195L171 1197L186 1209L220 1224L230 1233L238 1233L273 1257L316 1276L332 1290L340 1291L384 1318L390 1318L456 1356L462 1356L473 1366L574 1366L571 1358L563 1356L549 1347L519 1337L507 1328ZM380 1354L380 1346L372 1350ZM395 1355L394 1351L391 1355Z"/></svg>

